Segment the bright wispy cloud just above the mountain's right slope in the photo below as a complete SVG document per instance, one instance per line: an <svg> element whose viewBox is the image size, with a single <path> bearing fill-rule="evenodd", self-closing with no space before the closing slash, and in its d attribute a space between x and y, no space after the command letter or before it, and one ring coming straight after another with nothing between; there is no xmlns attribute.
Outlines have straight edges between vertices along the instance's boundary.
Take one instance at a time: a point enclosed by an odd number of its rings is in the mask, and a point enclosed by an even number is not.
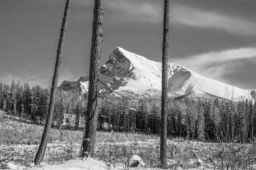
<svg viewBox="0 0 256 170"><path fill-rule="evenodd" d="M230 68L232 65L239 65L241 59L256 58L256 48L239 48L220 52L209 52L182 59L172 59L172 62L180 64L203 76L222 80L223 74L236 71Z"/></svg>

